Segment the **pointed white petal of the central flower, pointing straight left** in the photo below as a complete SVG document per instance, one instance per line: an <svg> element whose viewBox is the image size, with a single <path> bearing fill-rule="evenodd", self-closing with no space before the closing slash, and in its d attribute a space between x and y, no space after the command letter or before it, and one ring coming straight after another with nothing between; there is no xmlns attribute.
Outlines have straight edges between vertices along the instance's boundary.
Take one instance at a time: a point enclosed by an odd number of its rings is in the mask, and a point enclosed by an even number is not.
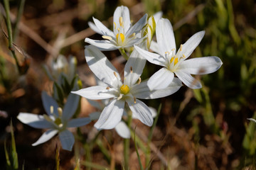
<svg viewBox="0 0 256 170"><path fill-rule="evenodd" d="M112 91L111 89L107 90L106 88L106 86L90 86L85 89L80 89L78 91L71 91L71 93L78 94L84 98L89 98L91 100L100 100L115 97L115 91Z"/></svg>

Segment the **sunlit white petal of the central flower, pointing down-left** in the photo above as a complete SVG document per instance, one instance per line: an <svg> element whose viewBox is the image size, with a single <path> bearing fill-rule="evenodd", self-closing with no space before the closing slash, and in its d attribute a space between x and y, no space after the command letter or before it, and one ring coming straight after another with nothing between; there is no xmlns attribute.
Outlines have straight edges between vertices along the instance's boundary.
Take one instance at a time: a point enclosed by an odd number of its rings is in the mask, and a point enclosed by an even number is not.
<svg viewBox="0 0 256 170"><path fill-rule="evenodd" d="M122 119L123 113L124 101L117 101L117 99L113 99L103 109L99 120L97 120L97 123L95 123L95 128L98 130L114 128Z"/></svg>

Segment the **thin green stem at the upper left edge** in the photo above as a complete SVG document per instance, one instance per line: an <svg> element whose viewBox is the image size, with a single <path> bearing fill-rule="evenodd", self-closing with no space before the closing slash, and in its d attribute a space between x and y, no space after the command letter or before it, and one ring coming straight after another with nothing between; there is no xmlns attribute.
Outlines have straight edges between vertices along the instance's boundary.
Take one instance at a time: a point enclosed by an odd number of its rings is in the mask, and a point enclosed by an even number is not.
<svg viewBox="0 0 256 170"><path fill-rule="evenodd" d="M21 67L18 64L18 59L15 54L14 45L13 45L13 38L12 38L12 31L11 31L11 19L10 19L10 7L9 7L9 0L4 0L4 8L6 11L6 27L8 31L8 40L9 40L9 50L14 57L16 65L18 67L18 72L21 71Z"/></svg>

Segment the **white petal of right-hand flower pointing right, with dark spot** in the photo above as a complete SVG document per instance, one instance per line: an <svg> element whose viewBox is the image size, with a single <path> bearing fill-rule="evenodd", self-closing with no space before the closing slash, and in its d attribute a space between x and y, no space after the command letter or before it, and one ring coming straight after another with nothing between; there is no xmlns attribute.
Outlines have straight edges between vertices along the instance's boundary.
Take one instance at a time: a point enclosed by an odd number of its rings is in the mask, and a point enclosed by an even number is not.
<svg viewBox="0 0 256 170"><path fill-rule="evenodd" d="M181 62L178 69L189 74L209 74L217 71L222 64L219 57L198 57Z"/></svg>

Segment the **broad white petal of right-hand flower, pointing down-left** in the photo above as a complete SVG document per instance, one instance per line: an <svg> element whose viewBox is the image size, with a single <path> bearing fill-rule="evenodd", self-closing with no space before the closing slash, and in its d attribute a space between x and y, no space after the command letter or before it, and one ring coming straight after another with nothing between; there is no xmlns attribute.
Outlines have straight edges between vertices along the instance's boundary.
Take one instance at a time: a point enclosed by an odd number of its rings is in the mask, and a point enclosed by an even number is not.
<svg viewBox="0 0 256 170"><path fill-rule="evenodd" d="M157 89L164 89L171 81L174 79L174 73L169 71L169 69L161 68L159 71L155 72L148 81L149 89L157 90Z"/></svg>

